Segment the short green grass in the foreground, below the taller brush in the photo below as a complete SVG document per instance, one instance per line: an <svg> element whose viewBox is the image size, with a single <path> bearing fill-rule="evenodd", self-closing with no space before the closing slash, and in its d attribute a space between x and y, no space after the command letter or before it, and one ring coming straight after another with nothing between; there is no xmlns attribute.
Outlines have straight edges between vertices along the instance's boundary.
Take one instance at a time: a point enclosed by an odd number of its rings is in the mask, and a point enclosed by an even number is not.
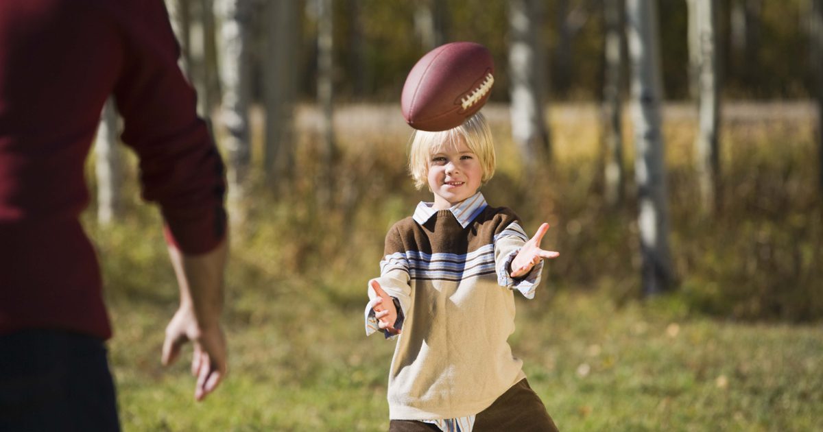
<svg viewBox="0 0 823 432"><path fill-rule="evenodd" d="M202 403L185 361L160 367L173 299L115 302L111 360L125 430L387 429L393 342L364 337L360 305L334 304L310 281L260 290L242 299L258 315L227 314L230 374ZM819 326L683 310L677 297L617 309L605 295L542 291L518 300L511 342L562 430L823 427Z"/></svg>

